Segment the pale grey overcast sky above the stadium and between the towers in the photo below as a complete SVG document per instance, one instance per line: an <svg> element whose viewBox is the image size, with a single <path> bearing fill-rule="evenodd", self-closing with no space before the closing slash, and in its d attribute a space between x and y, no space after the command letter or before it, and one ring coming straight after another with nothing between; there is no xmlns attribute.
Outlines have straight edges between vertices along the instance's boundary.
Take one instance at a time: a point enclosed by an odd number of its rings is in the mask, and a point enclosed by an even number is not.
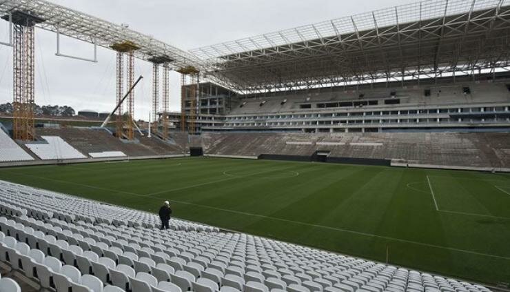
<svg viewBox="0 0 510 292"><path fill-rule="evenodd" d="M50 0L133 30L184 50L232 41L329 19L369 12L413 1L405 0ZM6 41L8 23L1 21ZM63 39L61 50L92 57L88 43ZM56 35L36 30L36 103L72 106L76 111L110 111L115 104L115 54L99 48L94 64L55 56ZM135 61L143 83L135 93L135 117L147 119L151 106L152 66ZM172 73L170 110L180 108L179 75ZM161 86L160 86L161 87ZM160 94L161 97L161 94ZM0 45L0 103L12 101L12 48Z"/></svg>

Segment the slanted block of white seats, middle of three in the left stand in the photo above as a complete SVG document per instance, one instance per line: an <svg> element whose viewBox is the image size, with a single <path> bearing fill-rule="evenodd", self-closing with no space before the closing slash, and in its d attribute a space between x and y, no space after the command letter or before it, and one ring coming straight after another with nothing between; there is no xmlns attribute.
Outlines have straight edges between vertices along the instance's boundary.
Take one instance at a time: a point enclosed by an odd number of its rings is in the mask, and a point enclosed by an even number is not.
<svg viewBox="0 0 510 292"><path fill-rule="evenodd" d="M42 138L48 143L27 143L25 145L43 160L87 158L61 137L42 136Z"/></svg>

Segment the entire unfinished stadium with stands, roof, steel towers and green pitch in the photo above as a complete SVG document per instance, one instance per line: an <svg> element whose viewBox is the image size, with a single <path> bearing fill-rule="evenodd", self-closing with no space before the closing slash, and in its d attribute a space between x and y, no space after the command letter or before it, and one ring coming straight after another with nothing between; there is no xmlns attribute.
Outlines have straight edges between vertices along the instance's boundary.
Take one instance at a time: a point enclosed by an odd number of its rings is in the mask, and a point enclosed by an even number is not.
<svg viewBox="0 0 510 292"><path fill-rule="evenodd" d="M48 0L0 17L0 292L510 291L509 1L192 50ZM39 33L114 54L108 111L37 104Z"/></svg>

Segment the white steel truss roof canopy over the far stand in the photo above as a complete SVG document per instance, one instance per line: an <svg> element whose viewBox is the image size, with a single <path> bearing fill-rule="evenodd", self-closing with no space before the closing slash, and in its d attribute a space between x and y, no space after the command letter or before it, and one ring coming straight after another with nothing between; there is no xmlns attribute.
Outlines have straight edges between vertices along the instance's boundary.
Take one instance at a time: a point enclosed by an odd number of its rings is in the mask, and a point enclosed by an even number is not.
<svg viewBox="0 0 510 292"><path fill-rule="evenodd" d="M424 1L191 52L244 93L472 74L509 66L505 1Z"/></svg>

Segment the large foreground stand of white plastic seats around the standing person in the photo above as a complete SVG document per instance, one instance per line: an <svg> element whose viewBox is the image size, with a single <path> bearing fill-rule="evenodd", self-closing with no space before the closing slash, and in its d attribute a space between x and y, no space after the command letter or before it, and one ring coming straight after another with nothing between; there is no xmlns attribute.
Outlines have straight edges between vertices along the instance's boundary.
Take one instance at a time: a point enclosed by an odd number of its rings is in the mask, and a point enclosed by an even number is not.
<svg viewBox="0 0 510 292"><path fill-rule="evenodd" d="M0 260L57 292L489 291L182 220L159 231L147 213L8 182L0 213Z"/></svg>

